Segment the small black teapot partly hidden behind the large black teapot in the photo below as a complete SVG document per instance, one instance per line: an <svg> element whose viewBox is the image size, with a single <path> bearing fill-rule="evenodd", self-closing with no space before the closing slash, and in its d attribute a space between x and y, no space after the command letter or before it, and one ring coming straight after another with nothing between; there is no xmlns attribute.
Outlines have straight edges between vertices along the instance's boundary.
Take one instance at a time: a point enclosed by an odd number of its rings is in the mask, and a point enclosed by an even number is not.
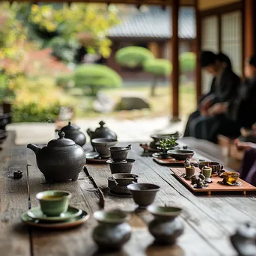
<svg viewBox="0 0 256 256"><path fill-rule="evenodd" d="M62 127L61 131L65 133L65 138L72 139L76 144L82 147L86 142L86 137L84 133L79 131L79 129L80 127L68 122L68 125L66 127ZM56 132L59 132L59 130L56 129Z"/></svg>

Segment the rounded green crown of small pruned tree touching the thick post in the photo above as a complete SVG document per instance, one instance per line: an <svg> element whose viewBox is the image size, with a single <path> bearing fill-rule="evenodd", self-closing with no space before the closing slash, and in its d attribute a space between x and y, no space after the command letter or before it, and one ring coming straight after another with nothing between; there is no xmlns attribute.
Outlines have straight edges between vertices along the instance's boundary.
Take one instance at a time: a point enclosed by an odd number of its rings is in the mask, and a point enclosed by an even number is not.
<svg viewBox="0 0 256 256"><path fill-rule="evenodd" d="M143 68L144 71L152 73L155 76L168 76L172 70L170 61L162 58L144 61Z"/></svg>

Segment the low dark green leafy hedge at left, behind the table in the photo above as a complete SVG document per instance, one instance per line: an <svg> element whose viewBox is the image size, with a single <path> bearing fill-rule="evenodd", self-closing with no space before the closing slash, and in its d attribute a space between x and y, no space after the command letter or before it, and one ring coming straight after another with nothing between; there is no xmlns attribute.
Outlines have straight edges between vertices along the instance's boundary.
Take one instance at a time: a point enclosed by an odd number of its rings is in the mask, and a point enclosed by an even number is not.
<svg viewBox="0 0 256 256"><path fill-rule="evenodd" d="M61 109L60 103L39 107L38 103L17 103L12 105L14 123L55 122Z"/></svg>

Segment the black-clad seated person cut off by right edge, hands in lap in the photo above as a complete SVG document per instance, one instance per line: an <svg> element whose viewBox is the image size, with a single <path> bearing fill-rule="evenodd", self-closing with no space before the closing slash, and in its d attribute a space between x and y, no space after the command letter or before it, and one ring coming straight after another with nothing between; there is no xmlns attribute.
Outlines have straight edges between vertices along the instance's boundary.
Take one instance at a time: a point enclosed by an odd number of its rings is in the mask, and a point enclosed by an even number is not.
<svg viewBox="0 0 256 256"><path fill-rule="evenodd" d="M246 80L237 96L229 102L216 103L201 120L201 138L216 142L217 135L238 137L242 127L251 128L256 119L256 55L246 60Z"/></svg>

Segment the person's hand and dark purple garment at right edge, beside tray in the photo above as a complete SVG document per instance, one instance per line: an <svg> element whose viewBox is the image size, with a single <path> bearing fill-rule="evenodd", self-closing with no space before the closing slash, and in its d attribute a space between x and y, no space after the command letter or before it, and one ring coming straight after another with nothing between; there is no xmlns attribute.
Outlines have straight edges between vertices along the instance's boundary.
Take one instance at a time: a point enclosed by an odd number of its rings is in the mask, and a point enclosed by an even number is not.
<svg viewBox="0 0 256 256"><path fill-rule="evenodd" d="M256 134L255 134L256 135ZM256 186L256 144L251 142L235 141L238 150L246 150L240 168L240 178Z"/></svg>

